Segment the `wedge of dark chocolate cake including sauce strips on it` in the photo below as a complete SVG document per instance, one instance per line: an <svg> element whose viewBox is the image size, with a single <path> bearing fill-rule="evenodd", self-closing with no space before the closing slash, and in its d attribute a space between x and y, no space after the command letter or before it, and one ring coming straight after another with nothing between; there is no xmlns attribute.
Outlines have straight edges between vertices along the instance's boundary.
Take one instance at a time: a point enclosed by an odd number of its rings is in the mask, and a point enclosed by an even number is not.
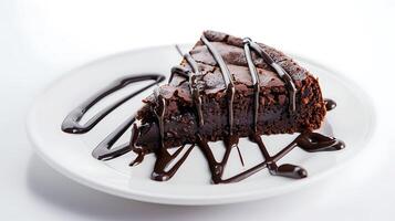
<svg viewBox="0 0 395 221"><path fill-rule="evenodd" d="M284 53L250 39L205 31L144 99L135 145L165 148L229 137L316 129L326 109L318 80Z"/></svg>

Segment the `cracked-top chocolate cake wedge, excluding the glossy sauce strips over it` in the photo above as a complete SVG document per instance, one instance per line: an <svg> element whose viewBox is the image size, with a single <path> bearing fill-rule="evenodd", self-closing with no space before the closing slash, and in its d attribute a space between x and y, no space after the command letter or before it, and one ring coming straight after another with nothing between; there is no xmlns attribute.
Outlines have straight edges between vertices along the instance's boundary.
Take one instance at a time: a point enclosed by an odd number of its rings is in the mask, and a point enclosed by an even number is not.
<svg viewBox="0 0 395 221"><path fill-rule="evenodd" d="M215 31L206 31L202 34L219 52L233 80L236 95L232 133L239 137L249 136L253 130L254 90L242 39ZM292 77L297 87L297 98L295 110L290 112L290 96L285 83L262 57L252 51L252 61L260 78L257 133L292 134L319 128L326 110L318 80L284 53L266 44L258 43L258 45ZM198 76L197 85L200 91L205 124L201 126L198 124L188 78L175 75L168 84L158 88L158 94L166 101L163 118L165 147L195 143L196 134L211 141L224 139L229 135L228 97L221 70L200 40L189 54L196 61L201 74ZM180 65L191 70L185 60ZM154 112L158 103L155 95L148 96L143 102L145 106L137 113L142 124L136 145L152 146L160 140L158 119Z"/></svg>

